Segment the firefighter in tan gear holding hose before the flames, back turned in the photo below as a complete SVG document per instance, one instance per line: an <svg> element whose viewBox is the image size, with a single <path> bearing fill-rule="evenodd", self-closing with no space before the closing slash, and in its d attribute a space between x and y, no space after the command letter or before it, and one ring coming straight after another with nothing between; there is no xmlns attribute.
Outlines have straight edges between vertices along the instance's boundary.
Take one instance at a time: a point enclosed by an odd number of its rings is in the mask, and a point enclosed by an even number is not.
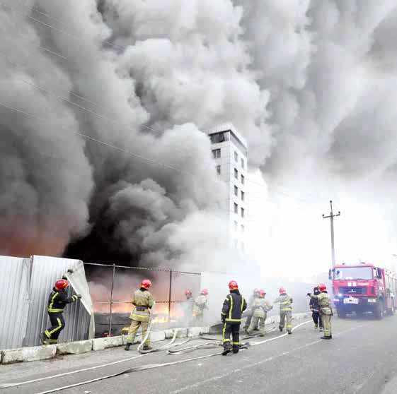
<svg viewBox="0 0 397 394"><path fill-rule="evenodd" d="M149 292L149 287L151 287L151 281L149 279L144 279L141 282L141 288L134 292L134 297L132 299L132 309L130 319L131 326L128 330L127 344L125 345L125 350L130 350L130 346L134 343L135 335L139 326L142 328L142 340L144 340L146 331L149 327L151 307L154 304L154 298ZM151 350L150 337L146 339L144 343L144 350Z"/></svg>

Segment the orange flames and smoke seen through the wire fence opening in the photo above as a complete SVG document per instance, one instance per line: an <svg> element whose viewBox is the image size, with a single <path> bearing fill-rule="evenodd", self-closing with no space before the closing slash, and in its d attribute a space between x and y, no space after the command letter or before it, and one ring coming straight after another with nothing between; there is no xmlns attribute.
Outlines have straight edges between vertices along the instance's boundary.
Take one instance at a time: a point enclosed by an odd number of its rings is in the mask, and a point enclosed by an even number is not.
<svg viewBox="0 0 397 394"><path fill-rule="evenodd" d="M88 285L96 313L96 335L117 335L130 324L132 294L140 282L148 278L156 300L154 326L169 327L183 324L185 289L193 297L200 292L200 273L161 268L129 267L127 265L84 263L87 265Z"/></svg>

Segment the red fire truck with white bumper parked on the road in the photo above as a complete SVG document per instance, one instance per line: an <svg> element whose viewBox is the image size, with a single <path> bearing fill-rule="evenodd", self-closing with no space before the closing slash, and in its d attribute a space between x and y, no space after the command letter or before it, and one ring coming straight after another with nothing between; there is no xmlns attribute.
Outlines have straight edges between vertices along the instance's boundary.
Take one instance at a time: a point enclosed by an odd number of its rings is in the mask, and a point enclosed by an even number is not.
<svg viewBox="0 0 397 394"><path fill-rule="evenodd" d="M329 278L333 282L333 302L340 318L353 311L357 316L370 311L379 319L394 314L396 273L367 263L341 264L330 270Z"/></svg>

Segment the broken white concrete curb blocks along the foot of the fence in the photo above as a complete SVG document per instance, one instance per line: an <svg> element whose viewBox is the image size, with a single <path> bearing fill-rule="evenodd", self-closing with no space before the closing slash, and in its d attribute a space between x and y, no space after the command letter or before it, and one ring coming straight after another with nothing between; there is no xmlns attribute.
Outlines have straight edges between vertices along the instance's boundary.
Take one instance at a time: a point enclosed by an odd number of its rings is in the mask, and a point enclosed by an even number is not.
<svg viewBox="0 0 397 394"><path fill-rule="evenodd" d="M294 314L294 320L303 320L309 318L311 314ZM266 324L275 324L280 322L280 316L271 316L266 319ZM161 342L173 337L174 329L152 331L151 342ZM195 338L200 334L209 334L210 326L206 327L189 327L179 328L177 338ZM141 340L141 335L137 335L136 341ZM80 340L76 342L59 343L58 345L44 345L34 347L21 347L18 349L0 350L0 364L11 364L13 362L33 362L38 360L51 359L57 354L81 354L91 351L108 349L125 345L127 335L120 335L109 338L96 338L92 340Z"/></svg>

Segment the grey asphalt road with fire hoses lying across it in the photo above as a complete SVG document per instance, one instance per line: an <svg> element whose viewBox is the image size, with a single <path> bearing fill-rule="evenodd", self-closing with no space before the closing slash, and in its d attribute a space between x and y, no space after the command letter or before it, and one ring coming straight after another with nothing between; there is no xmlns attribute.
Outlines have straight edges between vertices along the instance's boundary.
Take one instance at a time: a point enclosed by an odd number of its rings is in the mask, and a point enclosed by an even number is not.
<svg viewBox="0 0 397 394"><path fill-rule="evenodd" d="M112 366L6 388L0 390L0 394L44 393L132 366L170 362L178 364L135 371L67 388L61 393L397 393L397 316L383 321L375 321L371 316L333 318L333 340L319 339L321 335L312 323L297 328L292 335L278 336L280 333L274 331L265 338L251 340L253 346L249 350L226 357L219 355L217 348L173 356L159 352ZM259 340L270 341L255 345ZM195 340L189 345L199 343L200 340ZM209 354L216 355L205 357ZM0 383L53 376L135 356L135 352L116 348L48 362L0 366ZM203 358L184 362L195 357Z"/></svg>

